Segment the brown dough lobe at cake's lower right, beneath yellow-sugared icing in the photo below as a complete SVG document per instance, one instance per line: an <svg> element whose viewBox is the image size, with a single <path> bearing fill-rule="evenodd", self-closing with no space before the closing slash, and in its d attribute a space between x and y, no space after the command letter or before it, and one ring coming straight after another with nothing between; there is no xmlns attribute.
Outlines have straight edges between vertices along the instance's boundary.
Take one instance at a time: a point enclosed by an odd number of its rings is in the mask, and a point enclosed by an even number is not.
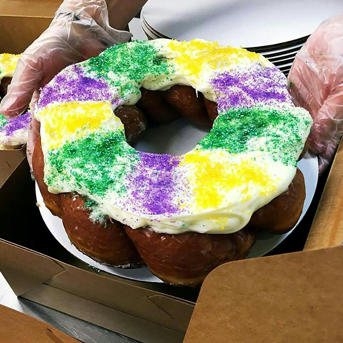
<svg viewBox="0 0 343 343"><path fill-rule="evenodd" d="M247 227L265 229L270 233L284 234L297 223L305 201L305 180L297 168L288 188L270 203L252 214Z"/></svg>

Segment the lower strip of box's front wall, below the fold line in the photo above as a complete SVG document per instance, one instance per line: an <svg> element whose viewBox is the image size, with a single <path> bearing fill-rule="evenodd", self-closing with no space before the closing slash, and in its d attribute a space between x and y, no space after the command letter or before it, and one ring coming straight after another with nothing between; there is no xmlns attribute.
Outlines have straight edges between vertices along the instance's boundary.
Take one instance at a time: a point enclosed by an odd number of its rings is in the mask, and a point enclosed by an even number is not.
<svg viewBox="0 0 343 343"><path fill-rule="evenodd" d="M85 287L87 286L85 285ZM102 292L103 289L96 288L91 291L98 293ZM109 330L129 335L141 342L180 343L184 337L184 333L161 327L155 323L100 305L49 285L39 285L23 296L26 299L90 321ZM122 297L125 295L114 293L112 296Z"/></svg>

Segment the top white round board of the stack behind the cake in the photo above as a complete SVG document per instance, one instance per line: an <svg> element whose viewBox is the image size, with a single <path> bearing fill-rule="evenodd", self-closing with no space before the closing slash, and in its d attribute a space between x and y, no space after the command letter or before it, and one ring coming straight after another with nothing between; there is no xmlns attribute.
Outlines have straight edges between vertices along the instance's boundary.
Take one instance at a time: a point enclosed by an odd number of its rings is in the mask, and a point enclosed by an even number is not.
<svg viewBox="0 0 343 343"><path fill-rule="evenodd" d="M342 10L342 0L149 0L141 15L167 37L262 47L305 37Z"/></svg>

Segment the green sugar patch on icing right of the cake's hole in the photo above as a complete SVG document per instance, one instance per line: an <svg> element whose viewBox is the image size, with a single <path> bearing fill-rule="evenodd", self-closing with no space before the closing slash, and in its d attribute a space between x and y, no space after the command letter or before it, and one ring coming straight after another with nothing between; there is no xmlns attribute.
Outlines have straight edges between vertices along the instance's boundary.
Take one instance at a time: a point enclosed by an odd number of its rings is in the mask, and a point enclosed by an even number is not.
<svg viewBox="0 0 343 343"><path fill-rule="evenodd" d="M196 149L223 149L234 154L267 151L275 161L296 165L303 140L299 132L310 126L310 121L300 119L298 111L301 110L270 106L229 109L217 117L212 130Z"/></svg>

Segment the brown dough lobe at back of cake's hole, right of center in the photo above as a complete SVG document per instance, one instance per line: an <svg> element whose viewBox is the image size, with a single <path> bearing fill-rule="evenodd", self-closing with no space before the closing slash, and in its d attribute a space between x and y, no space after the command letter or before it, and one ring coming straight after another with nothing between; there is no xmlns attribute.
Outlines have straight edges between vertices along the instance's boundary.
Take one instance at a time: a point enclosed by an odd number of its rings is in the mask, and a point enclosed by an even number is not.
<svg viewBox="0 0 343 343"><path fill-rule="evenodd" d="M197 95L193 87L175 85L164 91L162 95L171 106L191 122L212 127L204 105L204 96L200 92Z"/></svg>

